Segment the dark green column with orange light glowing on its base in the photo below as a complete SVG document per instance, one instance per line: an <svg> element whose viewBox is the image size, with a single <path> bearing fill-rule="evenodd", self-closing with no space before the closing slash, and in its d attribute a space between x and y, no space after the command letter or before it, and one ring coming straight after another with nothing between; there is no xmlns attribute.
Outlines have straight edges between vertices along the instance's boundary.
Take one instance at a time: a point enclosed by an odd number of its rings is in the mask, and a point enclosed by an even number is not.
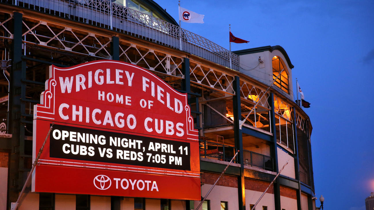
<svg viewBox="0 0 374 210"><path fill-rule="evenodd" d="M243 135L242 129L240 129L240 120L242 115L242 109L240 106L240 82L239 77L235 76L234 90L236 95L233 96L233 111L234 111L234 139L235 146L240 152L237 155L237 163L240 163L240 177L237 179L237 192L239 209L245 210L245 179L244 179L244 162L243 162Z"/></svg>

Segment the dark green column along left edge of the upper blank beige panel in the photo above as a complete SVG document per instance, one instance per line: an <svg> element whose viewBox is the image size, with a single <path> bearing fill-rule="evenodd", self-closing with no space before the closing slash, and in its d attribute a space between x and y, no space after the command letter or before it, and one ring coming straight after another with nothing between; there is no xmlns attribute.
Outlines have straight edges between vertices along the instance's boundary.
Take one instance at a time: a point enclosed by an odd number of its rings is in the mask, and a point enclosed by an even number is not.
<svg viewBox="0 0 374 210"><path fill-rule="evenodd" d="M278 167L278 151L277 151L277 133L275 129L275 109L274 109L274 94L270 93L270 97L268 100L270 106L272 106L272 110L270 111L270 119L271 119L271 124L270 126L272 127L272 133L273 133L273 143L270 146L271 148L271 156L273 157L273 165L275 166L274 171L276 173L279 172L279 167ZM280 192L280 186L279 186L279 178L275 180L273 183L274 187L274 204L275 204L275 209L276 210L281 210L281 192Z"/></svg>

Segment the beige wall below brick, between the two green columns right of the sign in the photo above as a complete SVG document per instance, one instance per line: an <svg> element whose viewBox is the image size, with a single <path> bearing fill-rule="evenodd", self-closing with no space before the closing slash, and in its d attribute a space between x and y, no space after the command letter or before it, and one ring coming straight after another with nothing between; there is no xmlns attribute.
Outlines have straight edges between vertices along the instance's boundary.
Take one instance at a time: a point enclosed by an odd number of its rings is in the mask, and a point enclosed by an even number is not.
<svg viewBox="0 0 374 210"><path fill-rule="evenodd" d="M245 190L245 209L249 210L250 204L255 204L258 201L258 198L261 197L263 192ZM265 193L264 197L257 204L255 209L262 209L262 206L267 206L268 210L274 210L274 194ZM230 208L229 208L230 209Z"/></svg>

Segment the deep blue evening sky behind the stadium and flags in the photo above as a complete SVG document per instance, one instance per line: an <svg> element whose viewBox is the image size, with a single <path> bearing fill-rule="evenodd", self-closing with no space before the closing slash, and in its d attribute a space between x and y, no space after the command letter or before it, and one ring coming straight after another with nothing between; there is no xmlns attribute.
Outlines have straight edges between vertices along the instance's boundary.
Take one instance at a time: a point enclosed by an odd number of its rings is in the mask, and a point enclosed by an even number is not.
<svg viewBox="0 0 374 210"><path fill-rule="evenodd" d="M155 0L178 21L178 1ZM182 27L229 49L232 33L250 41L232 50L282 46L313 125L316 197L324 209L365 210L374 192L374 1L182 0L205 15ZM295 90L294 90L295 91ZM316 201L319 206L319 200Z"/></svg>

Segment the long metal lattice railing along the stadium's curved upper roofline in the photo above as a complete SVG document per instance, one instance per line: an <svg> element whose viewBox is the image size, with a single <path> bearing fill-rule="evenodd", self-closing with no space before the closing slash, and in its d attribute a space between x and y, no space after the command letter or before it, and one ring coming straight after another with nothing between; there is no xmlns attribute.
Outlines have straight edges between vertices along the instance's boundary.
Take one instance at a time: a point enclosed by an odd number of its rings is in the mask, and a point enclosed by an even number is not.
<svg viewBox="0 0 374 210"><path fill-rule="evenodd" d="M239 56L179 26L108 0L0 0L61 18L107 28L184 50L226 67L239 69ZM181 31L181 32L180 32ZM180 44L181 40L181 44Z"/></svg>

